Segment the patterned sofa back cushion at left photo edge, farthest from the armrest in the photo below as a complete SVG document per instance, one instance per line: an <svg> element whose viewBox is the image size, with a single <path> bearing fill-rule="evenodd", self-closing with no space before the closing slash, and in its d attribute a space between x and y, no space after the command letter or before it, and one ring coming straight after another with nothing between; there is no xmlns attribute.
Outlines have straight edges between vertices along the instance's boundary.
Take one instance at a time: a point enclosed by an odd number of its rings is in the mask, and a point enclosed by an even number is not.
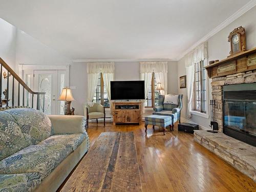
<svg viewBox="0 0 256 192"><path fill-rule="evenodd" d="M22 130L12 115L4 111L0 112L0 160L27 147Z"/></svg>

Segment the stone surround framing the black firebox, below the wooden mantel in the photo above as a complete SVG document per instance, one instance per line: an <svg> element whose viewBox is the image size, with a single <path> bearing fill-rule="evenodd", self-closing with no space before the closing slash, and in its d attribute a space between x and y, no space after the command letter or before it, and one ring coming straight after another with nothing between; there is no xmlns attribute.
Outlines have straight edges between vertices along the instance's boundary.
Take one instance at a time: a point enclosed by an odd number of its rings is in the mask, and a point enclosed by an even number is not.
<svg viewBox="0 0 256 192"><path fill-rule="evenodd" d="M223 77L212 78L212 99L216 100L216 121L219 124L219 132L223 132L223 101L222 101L222 86L227 84L241 84L256 82L256 70L236 73Z"/></svg>

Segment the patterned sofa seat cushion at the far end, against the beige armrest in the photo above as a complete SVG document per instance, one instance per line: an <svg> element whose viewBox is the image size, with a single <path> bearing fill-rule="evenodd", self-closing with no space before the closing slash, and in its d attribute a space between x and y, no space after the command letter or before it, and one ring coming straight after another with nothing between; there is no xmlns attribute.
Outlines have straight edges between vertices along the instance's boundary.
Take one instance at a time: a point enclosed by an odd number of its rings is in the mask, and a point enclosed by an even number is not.
<svg viewBox="0 0 256 192"><path fill-rule="evenodd" d="M66 147L71 147L73 151L87 138L87 134L59 134L53 135L44 141L38 143L38 145L55 145L55 144L63 144ZM89 140L89 139L88 139Z"/></svg>

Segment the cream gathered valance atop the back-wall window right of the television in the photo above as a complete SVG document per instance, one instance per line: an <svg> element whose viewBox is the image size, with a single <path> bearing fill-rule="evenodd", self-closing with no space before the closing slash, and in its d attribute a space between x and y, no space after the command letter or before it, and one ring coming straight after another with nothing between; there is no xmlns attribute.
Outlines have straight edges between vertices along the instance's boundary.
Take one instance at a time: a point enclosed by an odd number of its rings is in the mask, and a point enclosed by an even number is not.
<svg viewBox="0 0 256 192"><path fill-rule="evenodd" d="M140 73L167 73L167 61L140 62Z"/></svg>

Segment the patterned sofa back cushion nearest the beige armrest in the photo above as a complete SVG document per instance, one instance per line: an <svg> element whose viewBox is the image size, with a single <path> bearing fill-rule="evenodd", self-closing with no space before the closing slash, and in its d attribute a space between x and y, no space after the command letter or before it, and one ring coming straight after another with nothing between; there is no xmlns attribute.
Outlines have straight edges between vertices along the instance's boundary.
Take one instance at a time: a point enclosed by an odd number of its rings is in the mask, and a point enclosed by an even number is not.
<svg viewBox="0 0 256 192"><path fill-rule="evenodd" d="M13 116L20 129L22 129L25 138L31 144L37 144L52 135L49 117L38 110L19 108L6 110L5 112Z"/></svg>

